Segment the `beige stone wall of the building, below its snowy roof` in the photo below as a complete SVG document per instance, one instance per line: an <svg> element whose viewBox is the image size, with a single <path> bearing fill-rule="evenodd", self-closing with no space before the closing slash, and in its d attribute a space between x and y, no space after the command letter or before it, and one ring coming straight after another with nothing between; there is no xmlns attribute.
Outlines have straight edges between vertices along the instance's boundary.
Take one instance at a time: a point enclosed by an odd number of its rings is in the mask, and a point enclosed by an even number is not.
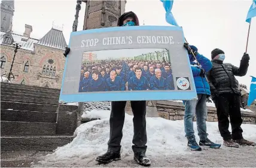
<svg viewBox="0 0 256 168"><path fill-rule="evenodd" d="M35 51L18 50L13 63L12 72L15 77L13 82L20 84L24 80L26 85L37 85L40 87L48 85L50 88L60 88L65 66L63 50L38 44L34 44L34 47ZM14 56L14 48L1 44L1 57L2 56L5 57L7 62L5 63L4 68L1 68L1 75L10 71L11 62L13 61ZM26 62L29 62L28 72L23 71ZM56 67L56 75L42 74L44 65L46 65L46 67L47 65Z"/></svg>

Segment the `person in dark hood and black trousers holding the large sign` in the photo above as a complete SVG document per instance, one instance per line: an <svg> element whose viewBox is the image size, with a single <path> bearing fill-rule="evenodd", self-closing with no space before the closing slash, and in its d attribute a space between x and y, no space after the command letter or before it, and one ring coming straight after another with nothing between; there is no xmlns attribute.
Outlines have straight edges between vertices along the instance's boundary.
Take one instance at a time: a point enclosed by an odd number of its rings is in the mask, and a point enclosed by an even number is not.
<svg viewBox="0 0 256 168"><path fill-rule="evenodd" d="M118 19L118 26L139 26L139 20L132 11L124 13ZM138 71L138 70L136 70ZM141 69L139 68L139 71ZM133 72L134 73L134 72ZM144 77L145 78L145 77ZM128 79L130 80L130 78ZM146 79L147 80L147 79ZM124 108L126 101L111 102L111 115L109 119L110 135L108 141L108 151L96 158L100 163L109 163L120 160L121 139L123 137ZM147 131L146 131L146 101L131 101L133 111L133 152L134 160L143 166L151 164L150 159L145 155L147 151Z"/></svg>

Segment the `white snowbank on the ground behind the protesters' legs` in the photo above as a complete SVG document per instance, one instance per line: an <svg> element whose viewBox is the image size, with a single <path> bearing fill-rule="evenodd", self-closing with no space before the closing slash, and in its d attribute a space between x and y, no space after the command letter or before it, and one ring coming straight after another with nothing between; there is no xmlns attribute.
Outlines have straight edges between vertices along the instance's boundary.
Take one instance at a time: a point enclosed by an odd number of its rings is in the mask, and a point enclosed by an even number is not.
<svg viewBox="0 0 256 168"><path fill-rule="evenodd" d="M101 118L102 120L90 121L81 124L75 130L76 137L71 143L59 147L53 154L48 154L34 167L92 167L95 166L95 158L106 152L109 139L109 114L110 111L87 111L89 118ZM123 127L123 139L121 140L121 157L124 160L132 160L133 116L126 114ZM213 142L223 143L218 131L218 123L207 122L209 139ZM256 140L256 125L243 124L243 136L246 139ZM194 123L195 135L197 135L196 123ZM164 118L147 118L148 149L147 155L153 160L169 160L167 158L191 159L192 151L187 150L187 139L184 136L184 121L170 121ZM196 136L197 142L199 138ZM223 148L223 147L222 147ZM227 149L227 147L224 147ZM215 150L215 149L213 149ZM218 149L217 149L218 150ZM220 149L221 150L221 149ZM228 148L227 150L230 150ZM224 152L228 152L224 150ZM233 149L232 149L233 150ZM224 154L225 155L225 154ZM91 164L90 164L91 163ZM93 163L93 164L92 164ZM207 163L207 160L206 160ZM114 164L114 163L113 163ZM113 166L112 164L112 166ZM156 163L155 163L156 164ZM114 164L115 165L115 164ZM135 164L136 165L136 164ZM161 164L156 164L160 166ZM196 164L197 165L197 164ZM134 165L133 165L134 166ZM128 167L133 167L129 165ZM120 165L127 167L127 165ZM197 167L197 166L196 166ZM226 166L225 166L226 167Z"/></svg>

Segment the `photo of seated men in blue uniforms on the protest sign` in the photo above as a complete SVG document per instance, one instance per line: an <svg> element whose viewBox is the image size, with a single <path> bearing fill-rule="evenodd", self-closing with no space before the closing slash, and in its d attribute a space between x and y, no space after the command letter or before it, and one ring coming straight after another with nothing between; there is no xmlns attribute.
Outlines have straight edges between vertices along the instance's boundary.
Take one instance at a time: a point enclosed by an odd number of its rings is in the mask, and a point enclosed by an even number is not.
<svg viewBox="0 0 256 168"><path fill-rule="evenodd" d="M174 90L167 49L83 53L79 92L133 90Z"/></svg>

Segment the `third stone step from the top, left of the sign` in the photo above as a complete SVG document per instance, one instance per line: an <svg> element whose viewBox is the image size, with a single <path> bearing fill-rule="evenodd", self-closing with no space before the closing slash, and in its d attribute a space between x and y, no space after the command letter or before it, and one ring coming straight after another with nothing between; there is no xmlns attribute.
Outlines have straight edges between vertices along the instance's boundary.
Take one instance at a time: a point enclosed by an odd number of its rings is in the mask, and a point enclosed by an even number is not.
<svg viewBox="0 0 256 168"><path fill-rule="evenodd" d="M57 105L59 103L59 99L51 98L48 99L39 99L34 97L18 97L18 96L5 96L1 95L2 101L11 101L11 102L28 102L28 103L41 103L47 105Z"/></svg>

